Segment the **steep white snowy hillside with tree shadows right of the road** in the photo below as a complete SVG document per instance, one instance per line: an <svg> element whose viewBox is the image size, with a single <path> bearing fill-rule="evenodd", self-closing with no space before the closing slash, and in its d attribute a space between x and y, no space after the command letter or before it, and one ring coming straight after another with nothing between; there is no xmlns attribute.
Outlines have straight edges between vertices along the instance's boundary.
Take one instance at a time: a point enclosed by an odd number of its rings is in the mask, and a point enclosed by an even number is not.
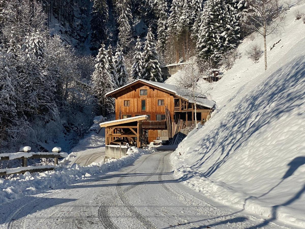
<svg viewBox="0 0 305 229"><path fill-rule="evenodd" d="M177 176L217 201L305 227L305 24L296 9L305 6L293 6L282 33L267 37L266 72L263 57L246 56L250 45L263 47L257 36L242 42L220 81L202 83L217 109L171 159Z"/></svg>

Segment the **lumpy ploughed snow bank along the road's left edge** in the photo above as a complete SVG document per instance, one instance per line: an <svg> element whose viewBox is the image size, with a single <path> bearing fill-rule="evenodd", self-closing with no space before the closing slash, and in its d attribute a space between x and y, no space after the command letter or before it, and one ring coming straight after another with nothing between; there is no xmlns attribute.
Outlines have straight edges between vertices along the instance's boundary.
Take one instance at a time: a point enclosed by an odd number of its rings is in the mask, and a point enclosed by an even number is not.
<svg viewBox="0 0 305 229"><path fill-rule="evenodd" d="M68 184L81 182L94 174L102 174L109 170L119 169L134 162L139 156L154 151L154 148L142 150L131 147L127 156L120 159L109 159L104 164L92 163L86 167L74 164L70 168L65 165L59 165L54 171L32 174L26 172L10 180L0 179L0 203L5 204L21 198L23 195L37 194L50 188L63 188ZM34 168L37 167L34 166Z"/></svg>

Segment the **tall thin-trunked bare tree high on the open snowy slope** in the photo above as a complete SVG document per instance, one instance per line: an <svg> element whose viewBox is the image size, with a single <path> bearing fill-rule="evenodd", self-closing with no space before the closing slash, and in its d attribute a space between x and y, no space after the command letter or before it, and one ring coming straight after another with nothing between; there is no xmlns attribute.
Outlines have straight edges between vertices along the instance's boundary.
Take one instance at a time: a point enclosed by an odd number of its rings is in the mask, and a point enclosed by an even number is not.
<svg viewBox="0 0 305 229"><path fill-rule="evenodd" d="M279 10L277 0L249 0L249 8L243 12L244 24L264 37L265 71L267 70L266 37L280 31L285 12Z"/></svg>

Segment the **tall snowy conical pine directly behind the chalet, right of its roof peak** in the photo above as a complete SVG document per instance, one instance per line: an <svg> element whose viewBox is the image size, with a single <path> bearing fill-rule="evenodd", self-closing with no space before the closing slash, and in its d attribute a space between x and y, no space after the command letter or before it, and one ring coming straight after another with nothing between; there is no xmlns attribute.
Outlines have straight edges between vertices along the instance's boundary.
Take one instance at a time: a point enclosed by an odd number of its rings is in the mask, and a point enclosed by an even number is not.
<svg viewBox="0 0 305 229"><path fill-rule="evenodd" d="M152 29L149 27L144 43L142 78L149 81L163 82L159 56Z"/></svg>

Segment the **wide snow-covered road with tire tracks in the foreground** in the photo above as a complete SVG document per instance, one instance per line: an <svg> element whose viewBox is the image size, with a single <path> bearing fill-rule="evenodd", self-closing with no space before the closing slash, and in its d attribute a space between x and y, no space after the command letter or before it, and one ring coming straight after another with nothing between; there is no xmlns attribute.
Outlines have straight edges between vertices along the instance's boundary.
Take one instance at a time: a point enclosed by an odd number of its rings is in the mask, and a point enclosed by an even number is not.
<svg viewBox="0 0 305 229"><path fill-rule="evenodd" d="M0 209L3 228L257 228L247 216L206 199L173 177L170 151L145 154L119 171ZM289 228L274 223L264 228Z"/></svg>

